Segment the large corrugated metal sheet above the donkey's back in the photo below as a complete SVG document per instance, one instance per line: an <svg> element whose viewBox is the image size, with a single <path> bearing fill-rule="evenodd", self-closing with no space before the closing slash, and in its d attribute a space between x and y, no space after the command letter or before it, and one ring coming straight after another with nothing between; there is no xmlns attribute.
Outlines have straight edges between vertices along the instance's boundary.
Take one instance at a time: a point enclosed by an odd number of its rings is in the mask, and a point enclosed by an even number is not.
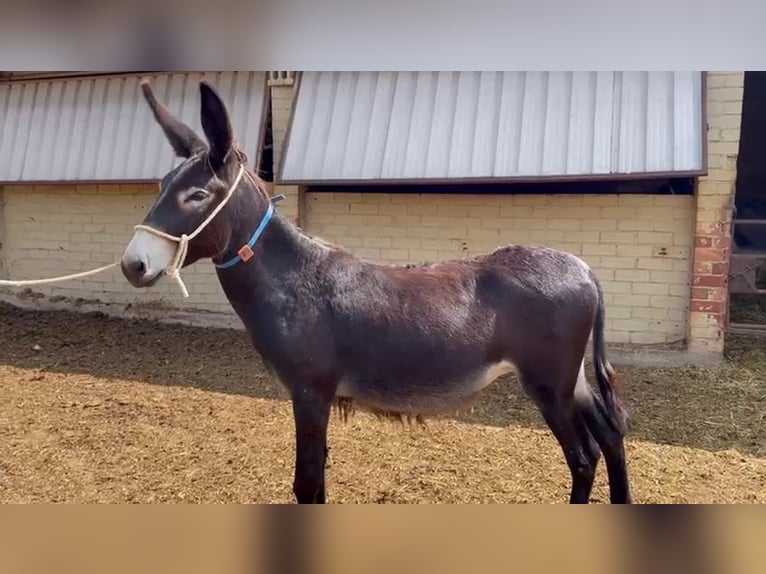
<svg viewBox="0 0 766 574"><path fill-rule="evenodd" d="M280 180L702 170L700 72L305 72Z"/></svg>

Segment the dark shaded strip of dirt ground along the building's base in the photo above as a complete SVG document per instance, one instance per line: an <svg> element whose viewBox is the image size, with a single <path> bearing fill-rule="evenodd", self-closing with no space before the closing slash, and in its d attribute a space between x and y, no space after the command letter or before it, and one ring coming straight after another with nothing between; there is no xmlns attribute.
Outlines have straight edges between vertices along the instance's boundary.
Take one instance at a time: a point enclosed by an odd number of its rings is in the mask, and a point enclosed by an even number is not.
<svg viewBox="0 0 766 574"><path fill-rule="evenodd" d="M766 349L732 338L716 368L625 368L620 392L631 435L707 450L766 456ZM285 399L240 331L125 320L100 313L25 311L0 304L0 364L106 379L187 386ZM514 377L489 387L457 420L540 427L542 417Z"/></svg>

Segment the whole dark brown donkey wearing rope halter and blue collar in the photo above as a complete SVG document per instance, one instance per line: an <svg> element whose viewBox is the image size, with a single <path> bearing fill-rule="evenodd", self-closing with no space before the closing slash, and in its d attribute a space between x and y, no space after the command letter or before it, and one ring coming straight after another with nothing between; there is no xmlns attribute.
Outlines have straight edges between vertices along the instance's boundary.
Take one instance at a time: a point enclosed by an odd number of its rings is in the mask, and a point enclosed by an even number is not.
<svg viewBox="0 0 766 574"><path fill-rule="evenodd" d="M612 503L631 502L626 413L604 352L604 298L582 260L509 245L417 266L364 261L272 216L272 201L243 167L247 160L211 86L200 84L207 144L157 102L148 84L142 87L185 161L162 179L144 220L150 231L136 231L123 273L135 287L156 283L173 266L177 244L151 230L191 234L229 198L189 242L182 263L213 260L253 346L290 393L299 503L325 502L334 403L406 417L454 411L514 367L564 451L570 501L588 502L603 451ZM584 372L591 333L599 394Z"/></svg>

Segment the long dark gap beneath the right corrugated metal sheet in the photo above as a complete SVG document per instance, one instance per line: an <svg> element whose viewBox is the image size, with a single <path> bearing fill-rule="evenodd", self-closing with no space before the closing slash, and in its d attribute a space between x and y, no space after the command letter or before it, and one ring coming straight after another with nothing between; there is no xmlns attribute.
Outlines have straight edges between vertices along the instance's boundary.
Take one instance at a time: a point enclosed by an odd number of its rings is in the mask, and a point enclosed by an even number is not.
<svg viewBox="0 0 766 574"><path fill-rule="evenodd" d="M312 185L310 191L335 193L412 193L412 194L487 194L487 195L535 195L535 194L646 194L646 195L694 195L693 177L552 181L519 183L443 183L443 184L333 184Z"/></svg>

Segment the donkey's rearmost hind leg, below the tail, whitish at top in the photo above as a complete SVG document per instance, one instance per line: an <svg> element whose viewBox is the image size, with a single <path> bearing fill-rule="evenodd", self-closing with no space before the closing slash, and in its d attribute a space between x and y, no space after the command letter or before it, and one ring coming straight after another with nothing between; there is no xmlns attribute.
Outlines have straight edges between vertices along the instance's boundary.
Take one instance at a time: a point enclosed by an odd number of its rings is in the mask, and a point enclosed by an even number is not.
<svg viewBox="0 0 766 574"><path fill-rule="evenodd" d="M622 434L609 424L601 397L595 395L585 380L583 371L577 381L575 400L590 434L604 452L609 476L609 499L612 504L630 504L630 484L625 462L625 444Z"/></svg>

